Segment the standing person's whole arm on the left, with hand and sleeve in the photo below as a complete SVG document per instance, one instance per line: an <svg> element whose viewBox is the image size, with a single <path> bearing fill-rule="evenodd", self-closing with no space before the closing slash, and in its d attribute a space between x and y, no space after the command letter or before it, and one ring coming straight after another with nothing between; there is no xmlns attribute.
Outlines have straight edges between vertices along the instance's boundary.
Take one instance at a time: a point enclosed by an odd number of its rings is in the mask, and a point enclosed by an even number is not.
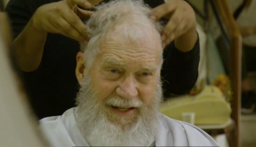
<svg viewBox="0 0 256 147"><path fill-rule="evenodd" d="M75 2L83 7L90 7L90 4L87 1L84 3L84 1L77 0ZM73 0L43 4L29 14L26 10L27 6L20 9L19 2L10 1L7 12L9 11L12 27L14 27L14 35L19 34L14 40L14 56L22 71L34 71L40 65L47 33L59 33L78 42L86 41L86 26L79 16L89 17L92 12L79 9ZM17 13L17 8L22 12ZM34 15L31 17L33 13ZM21 30L22 32L19 33Z"/></svg>

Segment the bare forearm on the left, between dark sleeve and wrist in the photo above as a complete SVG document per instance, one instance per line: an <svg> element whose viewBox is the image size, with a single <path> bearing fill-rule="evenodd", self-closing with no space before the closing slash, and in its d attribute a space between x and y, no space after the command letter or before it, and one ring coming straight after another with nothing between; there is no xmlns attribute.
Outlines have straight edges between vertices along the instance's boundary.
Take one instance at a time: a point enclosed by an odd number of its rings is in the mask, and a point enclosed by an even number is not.
<svg viewBox="0 0 256 147"><path fill-rule="evenodd" d="M22 71L34 71L41 63L47 32L37 30L29 21L15 38L13 53Z"/></svg>

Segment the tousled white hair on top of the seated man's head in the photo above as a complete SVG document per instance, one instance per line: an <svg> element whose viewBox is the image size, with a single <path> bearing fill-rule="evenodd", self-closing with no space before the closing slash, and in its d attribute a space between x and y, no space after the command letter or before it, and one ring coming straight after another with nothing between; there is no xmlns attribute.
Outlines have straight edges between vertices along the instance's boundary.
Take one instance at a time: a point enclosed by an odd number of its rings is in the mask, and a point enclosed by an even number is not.
<svg viewBox="0 0 256 147"><path fill-rule="evenodd" d="M120 34L127 40L135 43L152 40L152 34L157 35L160 42L162 25L149 19L151 8L142 0L115 0L94 8L96 12L86 23L87 35L91 39L86 45L81 45L88 69L99 52L101 42L117 28L121 28Z"/></svg>

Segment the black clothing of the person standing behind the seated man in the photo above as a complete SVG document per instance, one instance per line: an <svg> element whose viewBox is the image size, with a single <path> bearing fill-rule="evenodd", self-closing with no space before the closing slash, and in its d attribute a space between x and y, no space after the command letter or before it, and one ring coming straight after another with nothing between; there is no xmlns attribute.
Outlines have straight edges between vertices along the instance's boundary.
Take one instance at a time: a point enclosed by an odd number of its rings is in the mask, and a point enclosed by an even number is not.
<svg viewBox="0 0 256 147"><path fill-rule="evenodd" d="M150 7L159 6L162 0L145 0ZM36 9L56 0L11 0L6 11L11 20L14 37L21 33ZM32 37L32 36L31 36ZM37 117L61 115L75 106L79 89L75 75L76 54L79 43L62 35L48 33L39 68L23 72L29 100ZM165 93L185 94L197 81L199 66L199 41L193 50L182 53L172 43L164 51Z"/></svg>

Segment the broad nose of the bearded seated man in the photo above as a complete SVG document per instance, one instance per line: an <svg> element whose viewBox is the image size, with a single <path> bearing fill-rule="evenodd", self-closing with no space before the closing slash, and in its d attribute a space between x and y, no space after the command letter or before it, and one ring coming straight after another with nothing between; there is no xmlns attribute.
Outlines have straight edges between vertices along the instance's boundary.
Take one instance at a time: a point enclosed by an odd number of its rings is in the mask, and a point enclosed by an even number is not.
<svg viewBox="0 0 256 147"><path fill-rule="evenodd" d="M137 97L138 91L136 88L135 80L132 78L132 76L124 79L119 86L116 89L116 92L119 96L127 98L127 99L133 99Z"/></svg>

